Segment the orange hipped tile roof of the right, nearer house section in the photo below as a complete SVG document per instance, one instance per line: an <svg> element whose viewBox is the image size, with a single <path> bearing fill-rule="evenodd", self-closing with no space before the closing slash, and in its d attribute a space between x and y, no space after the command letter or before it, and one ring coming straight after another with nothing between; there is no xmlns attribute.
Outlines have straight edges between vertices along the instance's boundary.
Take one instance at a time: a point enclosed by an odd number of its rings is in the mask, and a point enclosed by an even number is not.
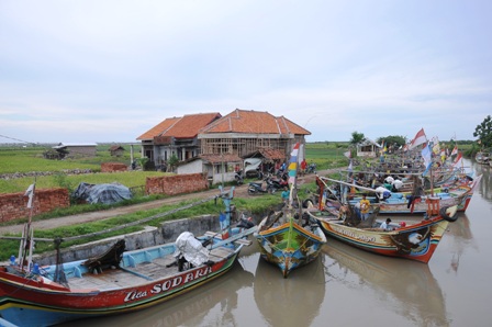
<svg viewBox="0 0 492 327"><path fill-rule="evenodd" d="M276 117L268 112L236 109L200 133L297 134L311 135L305 128L284 116Z"/></svg>

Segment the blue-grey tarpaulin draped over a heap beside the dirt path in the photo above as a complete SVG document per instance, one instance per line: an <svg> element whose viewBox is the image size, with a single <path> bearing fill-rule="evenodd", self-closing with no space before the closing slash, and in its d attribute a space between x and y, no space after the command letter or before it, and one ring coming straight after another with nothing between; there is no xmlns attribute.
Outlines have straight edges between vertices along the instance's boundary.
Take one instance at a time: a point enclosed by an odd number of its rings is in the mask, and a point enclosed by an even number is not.
<svg viewBox="0 0 492 327"><path fill-rule="evenodd" d="M119 183L89 184L81 182L72 193L76 199L86 200L88 203L112 204L132 199L132 192L125 185Z"/></svg>

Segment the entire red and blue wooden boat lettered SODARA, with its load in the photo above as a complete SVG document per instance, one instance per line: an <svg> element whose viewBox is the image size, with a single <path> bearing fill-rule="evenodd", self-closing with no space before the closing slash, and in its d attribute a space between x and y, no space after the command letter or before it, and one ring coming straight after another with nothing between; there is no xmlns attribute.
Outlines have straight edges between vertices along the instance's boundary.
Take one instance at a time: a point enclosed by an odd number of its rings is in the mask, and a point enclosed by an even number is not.
<svg viewBox="0 0 492 327"><path fill-rule="evenodd" d="M185 232L175 243L131 251L122 238L96 258L48 267L24 266L21 258L0 267L0 317L19 326L51 326L171 300L231 270L256 230L232 227L228 216L221 228L200 237Z"/></svg>

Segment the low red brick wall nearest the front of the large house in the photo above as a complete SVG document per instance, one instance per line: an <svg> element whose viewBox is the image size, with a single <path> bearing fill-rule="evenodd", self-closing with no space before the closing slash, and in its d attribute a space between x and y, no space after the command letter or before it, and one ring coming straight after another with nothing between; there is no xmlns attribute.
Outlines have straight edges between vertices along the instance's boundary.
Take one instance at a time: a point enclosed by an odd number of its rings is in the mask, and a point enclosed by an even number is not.
<svg viewBox="0 0 492 327"><path fill-rule="evenodd" d="M145 182L147 194L176 195L203 191L208 188L209 182L202 173L148 177Z"/></svg>

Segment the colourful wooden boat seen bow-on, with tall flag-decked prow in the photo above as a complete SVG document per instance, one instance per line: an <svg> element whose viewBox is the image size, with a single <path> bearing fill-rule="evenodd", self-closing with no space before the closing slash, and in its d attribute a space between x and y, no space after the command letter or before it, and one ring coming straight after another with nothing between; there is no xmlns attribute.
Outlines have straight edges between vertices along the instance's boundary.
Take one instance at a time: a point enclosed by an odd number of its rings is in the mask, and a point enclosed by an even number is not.
<svg viewBox="0 0 492 327"><path fill-rule="evenodd" d="M295 177L298 170L299 143L294 146L289 165L290 199L282 211L270 213L259 224L254 234L260 247L260 256L278 266L283 278L299 267L315 260L326 244L326 236L314 222L302 222L300 207L293 206Z"/></svg>

